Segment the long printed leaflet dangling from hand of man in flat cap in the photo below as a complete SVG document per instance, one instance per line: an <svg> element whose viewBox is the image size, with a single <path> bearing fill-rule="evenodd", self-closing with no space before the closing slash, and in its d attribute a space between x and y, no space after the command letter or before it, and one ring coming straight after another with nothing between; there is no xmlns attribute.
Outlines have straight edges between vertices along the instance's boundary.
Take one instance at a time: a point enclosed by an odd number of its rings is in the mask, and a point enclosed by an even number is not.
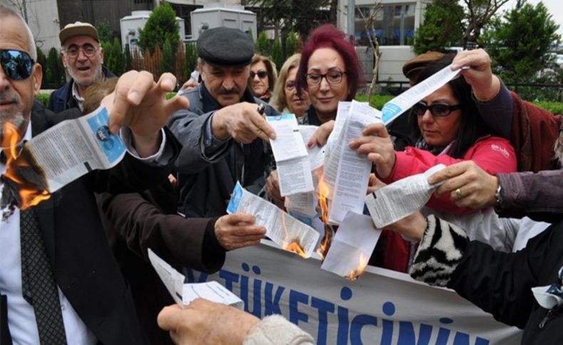
<svg viewBox="0 0 563 345"><path fill-rule="evenodd" d="M276 139L270 139L270 144L276 159L279 193L287 196L314 191L311 165L295 115L268 116L267 120L276 131Z"/></svg>

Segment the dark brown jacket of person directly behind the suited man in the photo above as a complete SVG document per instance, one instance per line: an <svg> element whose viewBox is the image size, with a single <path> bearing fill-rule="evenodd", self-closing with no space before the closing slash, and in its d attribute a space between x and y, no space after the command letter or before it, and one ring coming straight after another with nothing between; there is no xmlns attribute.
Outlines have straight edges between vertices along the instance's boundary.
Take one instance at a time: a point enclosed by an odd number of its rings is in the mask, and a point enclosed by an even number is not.
<svg viewBox="0 0 563 345"><path fill-rule="evenodd" d="M148 262L148 248L177 270L189 266L216 272L225 258L225 250L215 238L216 218L177 215L177 192L168 181L143 193L101 193L98 203L143 330L151 344L172 344L170 334L158 327L156 319L162 307L175 302Z"/></svg>

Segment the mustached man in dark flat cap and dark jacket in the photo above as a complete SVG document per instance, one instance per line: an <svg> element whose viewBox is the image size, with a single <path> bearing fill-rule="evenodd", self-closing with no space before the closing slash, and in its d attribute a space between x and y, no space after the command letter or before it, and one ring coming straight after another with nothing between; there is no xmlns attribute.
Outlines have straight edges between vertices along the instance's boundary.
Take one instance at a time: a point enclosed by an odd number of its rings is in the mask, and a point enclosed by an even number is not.
<svg viewBox="0 0 563 345"><path fill-rule="evenodd" d="M176 163L179 211L213 217L225 213L237 181L252 193L264 186L267 140L275 137L264 115L277 112L247 87L254 43L246 33L204 31L197 53L202 83L185 94L190 107L172 115L169 127L183 145Z"/></svg>

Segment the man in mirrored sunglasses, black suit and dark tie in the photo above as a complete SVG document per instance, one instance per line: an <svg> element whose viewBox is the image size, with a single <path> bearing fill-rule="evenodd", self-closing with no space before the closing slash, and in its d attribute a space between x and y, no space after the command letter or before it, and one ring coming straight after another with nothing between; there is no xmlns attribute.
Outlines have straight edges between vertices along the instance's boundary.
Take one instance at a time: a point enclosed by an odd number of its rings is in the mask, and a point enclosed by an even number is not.
<svg viewBox="0 0 563 345"><path fill-rule="evenodd" d="M43 76L33 61L33 35L21 16L2 4L0 28L0 128L11 123L29 140L80 117L78 109L47 116L31 111ZM103 99L108 128L121 131L129 152L113 169L91 171L26 210L13 200L5 177L0 179L1 345L147 343L94 193L142 191L167 179L179 148L162 127L187 107L182 97L165 100L175 83L170 73L155 83L150 73L130 71ZM2 139L9 138L2 134Z"/></svg>

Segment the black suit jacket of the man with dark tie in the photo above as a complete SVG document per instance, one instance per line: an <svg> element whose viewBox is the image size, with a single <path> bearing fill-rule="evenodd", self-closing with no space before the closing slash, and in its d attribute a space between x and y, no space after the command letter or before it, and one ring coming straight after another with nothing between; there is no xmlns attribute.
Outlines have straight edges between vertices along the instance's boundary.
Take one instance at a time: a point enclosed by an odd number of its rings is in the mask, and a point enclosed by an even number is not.
<svg viewBox="0 0 563 345"><path fill-rule="evenodd" d="M33 135L80 116L79 110L58 115L45 109L35 111L31 115ZM168 137L177 153L177 142L172 135ZM105 345L146 344L147 340L105 238L94 192L143 190L166 181L167 174L168 166L148 166L126 154L113 169L92 171L35 206L56 284Z"/></svg>

